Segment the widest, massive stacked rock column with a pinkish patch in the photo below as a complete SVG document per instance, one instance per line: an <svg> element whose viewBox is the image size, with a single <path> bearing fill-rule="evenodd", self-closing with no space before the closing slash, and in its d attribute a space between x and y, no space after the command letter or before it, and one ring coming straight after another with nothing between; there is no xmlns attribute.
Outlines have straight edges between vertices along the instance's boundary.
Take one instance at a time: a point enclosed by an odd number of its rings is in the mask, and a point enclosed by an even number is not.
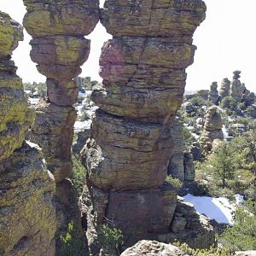
<svg viewBox="0 0 256 256"><path fill-rule="evenodd" d="M105 2L101 21L113 39L102 48L103 86L92 93L100 109L83 152L89 224L107 220L131 240L169 230L177 197L165 183L169 127L205 11L201 0Z"/></svg>

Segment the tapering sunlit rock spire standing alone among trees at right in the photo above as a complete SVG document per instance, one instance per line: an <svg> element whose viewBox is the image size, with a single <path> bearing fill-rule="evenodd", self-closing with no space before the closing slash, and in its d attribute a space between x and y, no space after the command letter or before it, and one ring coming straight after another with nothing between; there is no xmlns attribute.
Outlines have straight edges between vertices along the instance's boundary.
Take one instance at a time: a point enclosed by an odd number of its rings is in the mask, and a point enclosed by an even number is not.
<svg viewBox="0 0 256 256"><path fill-rule="evenodd" d="M216 106L208 108L205 116L205 124L200 137L203 154L206 155L212 150L212 143L215 139L224 140L222 127L222 119L218 113L218 108Z"/></svg>

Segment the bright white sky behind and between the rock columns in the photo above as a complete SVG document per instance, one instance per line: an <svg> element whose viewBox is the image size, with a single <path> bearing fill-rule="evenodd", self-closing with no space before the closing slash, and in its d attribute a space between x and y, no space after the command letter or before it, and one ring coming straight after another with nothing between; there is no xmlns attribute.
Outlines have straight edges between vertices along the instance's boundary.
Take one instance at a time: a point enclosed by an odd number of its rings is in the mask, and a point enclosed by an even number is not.
<svg viewBox="0 0 256 256"><path fill-rule="evenodd" d="M102 3L104 1L102 0ZM197 29L194 44L197 46L194 64L187 69L187 90L208 89L212 81L220 84L232 72L241 70L241 81L249 90L256 91L256 1L206 0L207 20ZM101 3L101 4L102 4ZM15 7L15 8L14 8ZM0 9L22 23L26 13L22 0L1 0ZM83 66L82 76L101 80L98 61L102 44L111 38L104 27L96 26L89 37L90 58ZM29 57L30 37L20 43L13 56L18 74L24 81L44 81Z"/></svg>

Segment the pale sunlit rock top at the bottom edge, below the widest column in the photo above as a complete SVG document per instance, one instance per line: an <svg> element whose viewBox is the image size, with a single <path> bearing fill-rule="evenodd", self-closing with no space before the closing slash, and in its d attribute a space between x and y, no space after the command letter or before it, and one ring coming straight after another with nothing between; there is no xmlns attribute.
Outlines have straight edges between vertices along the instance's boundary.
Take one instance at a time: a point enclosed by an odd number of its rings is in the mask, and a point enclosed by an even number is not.
<svg viewBox="0 0 256 256"><path fill-rule="evenodd" d="M142 254L143 253L143 254ZM121 256L188 256L178 247L159 241L138 241L136 245L125 250Z"/></svg>

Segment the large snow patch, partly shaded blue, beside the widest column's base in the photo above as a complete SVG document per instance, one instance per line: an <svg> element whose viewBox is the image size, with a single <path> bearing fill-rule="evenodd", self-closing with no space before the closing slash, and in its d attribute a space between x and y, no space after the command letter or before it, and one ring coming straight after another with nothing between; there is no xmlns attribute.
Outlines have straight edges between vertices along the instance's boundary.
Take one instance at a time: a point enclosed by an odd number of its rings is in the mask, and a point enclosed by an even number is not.
<svg viewBox="0 0 256 256"><path fill-rule="evenodd" d="M218 223L233 225L233 215L236 207L225 197L214 198L210 196L184 196L187 201L195 206L196 212L205 214L207 218L215 219Z"/></svg>

